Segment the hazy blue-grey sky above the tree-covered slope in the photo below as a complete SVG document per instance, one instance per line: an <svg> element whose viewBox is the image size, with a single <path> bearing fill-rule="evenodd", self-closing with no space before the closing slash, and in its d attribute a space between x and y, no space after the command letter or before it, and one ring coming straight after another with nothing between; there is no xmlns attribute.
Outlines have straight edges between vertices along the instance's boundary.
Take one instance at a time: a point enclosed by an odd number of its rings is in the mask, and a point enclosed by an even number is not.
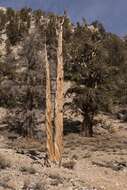
<svg viewBox="0 0 127 190"><path fill-rule="evenodd" d="M127 0L0 0L0 6L20 9L28 6L62 14L67 10L72 22L85 18L99 20L107 31L127 34Z"/></svg>

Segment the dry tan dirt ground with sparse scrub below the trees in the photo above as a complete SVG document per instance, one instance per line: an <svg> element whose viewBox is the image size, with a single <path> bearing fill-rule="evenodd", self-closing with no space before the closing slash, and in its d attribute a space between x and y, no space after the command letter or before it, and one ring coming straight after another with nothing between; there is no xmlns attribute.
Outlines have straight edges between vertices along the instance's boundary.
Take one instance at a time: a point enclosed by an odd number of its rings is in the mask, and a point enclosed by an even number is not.
<svg viewBox="0 0 127 190"><path fill-rule="evenodd" d="M127 123L99 116L93 138L66 125L62 167L46 167L45 143L0 130L0 190L127 190ZM9 137L9 138L8 138Z"/></svg>

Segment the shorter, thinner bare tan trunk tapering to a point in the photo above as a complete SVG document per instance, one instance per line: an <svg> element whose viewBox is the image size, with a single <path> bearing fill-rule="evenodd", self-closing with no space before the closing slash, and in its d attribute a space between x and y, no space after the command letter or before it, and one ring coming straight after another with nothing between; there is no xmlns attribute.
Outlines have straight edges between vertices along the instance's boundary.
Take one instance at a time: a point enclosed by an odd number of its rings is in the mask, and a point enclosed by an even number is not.
<svg viewBox="0 0 127 190"><path fill-rule="evenodd" d="M47 48L45 44L45 63L46 63L46 134L47 134L47 150L50 160L54 160L54 144L53 144L53 126L52 126L52 105L51 105L51 81L50 67L47 58Z"/></svg>

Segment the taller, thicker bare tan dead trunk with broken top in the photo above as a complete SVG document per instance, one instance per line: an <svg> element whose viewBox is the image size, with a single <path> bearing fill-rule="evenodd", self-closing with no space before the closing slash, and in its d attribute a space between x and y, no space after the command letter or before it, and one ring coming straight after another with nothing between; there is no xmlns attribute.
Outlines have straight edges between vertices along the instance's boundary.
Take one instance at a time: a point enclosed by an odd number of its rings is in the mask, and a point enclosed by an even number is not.
<svg viewBox="0 0 127 190"><path fill-rule="evenodd" d="M58 38L57 48L57 81L55 101L55 160L61 162L63 152L63 22L58 20L56 35Z"/></svg>

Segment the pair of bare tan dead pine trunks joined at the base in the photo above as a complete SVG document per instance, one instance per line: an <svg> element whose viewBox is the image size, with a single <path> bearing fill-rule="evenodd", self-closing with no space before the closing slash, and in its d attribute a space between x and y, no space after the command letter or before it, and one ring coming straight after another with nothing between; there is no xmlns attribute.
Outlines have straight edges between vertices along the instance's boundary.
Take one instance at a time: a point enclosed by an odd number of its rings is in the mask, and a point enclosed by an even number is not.
<svg viewBox="0 0 127 190"><path fill-rule="evenodd" d="M46 132L49 159L61 163L63 152L63 18L57 20L58 40L56 67L46 61ZM56 71L54 71L54 68ZM56 73L56 74L55 74Z"/></svg>

